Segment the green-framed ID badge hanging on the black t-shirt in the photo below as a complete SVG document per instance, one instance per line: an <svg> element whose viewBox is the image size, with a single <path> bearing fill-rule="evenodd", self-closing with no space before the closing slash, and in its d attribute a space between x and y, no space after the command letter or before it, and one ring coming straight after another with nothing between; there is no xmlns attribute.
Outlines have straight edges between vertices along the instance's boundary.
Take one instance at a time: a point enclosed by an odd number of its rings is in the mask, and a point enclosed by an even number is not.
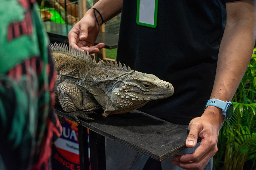
<svg viewBox="0 0 256 170"><path fill-rule="evenodd" d="M156 28L158 0L137 0L138 25Z"/></svg>

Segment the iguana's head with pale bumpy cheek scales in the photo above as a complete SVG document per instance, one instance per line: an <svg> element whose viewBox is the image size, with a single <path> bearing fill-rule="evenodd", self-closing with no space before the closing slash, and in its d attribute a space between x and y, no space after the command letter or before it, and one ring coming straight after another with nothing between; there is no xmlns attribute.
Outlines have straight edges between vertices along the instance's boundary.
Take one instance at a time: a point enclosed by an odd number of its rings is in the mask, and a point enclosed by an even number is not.
<svg viewBox="0 0 256 170"><path fill-rule="evenodd" d="M133 72L112 89L111 101L118 109L136 109L150 100L172 96L173 85L153 74Z"/></svg>

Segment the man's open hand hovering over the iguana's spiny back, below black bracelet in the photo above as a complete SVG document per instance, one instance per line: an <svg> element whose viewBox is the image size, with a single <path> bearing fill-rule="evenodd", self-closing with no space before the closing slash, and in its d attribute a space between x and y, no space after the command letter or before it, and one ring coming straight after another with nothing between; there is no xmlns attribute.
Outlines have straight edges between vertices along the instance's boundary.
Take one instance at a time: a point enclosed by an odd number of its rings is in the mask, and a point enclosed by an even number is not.
<svg viewBox="0 0 256 170"><path fill-rule="evenodd" d="M96 24L93 9L89 9L84 17L70 30L68 34L69 44L86 52L99 52L105 44L99 43L94 46L98 33L99 26Z"/></svg>

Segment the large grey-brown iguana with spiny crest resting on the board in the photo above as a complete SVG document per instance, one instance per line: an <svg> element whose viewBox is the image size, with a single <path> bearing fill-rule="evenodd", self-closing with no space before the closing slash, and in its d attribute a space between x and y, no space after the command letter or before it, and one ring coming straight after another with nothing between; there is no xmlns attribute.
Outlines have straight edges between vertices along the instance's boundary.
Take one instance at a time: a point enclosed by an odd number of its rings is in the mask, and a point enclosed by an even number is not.
<svg viewBox="0 0 256 170"><path fill-rule="evenodd" d="M102 115L107 117L173 95L173 86L153 74L134 71L116 61L96 62L88 52L65 44L49 47L58 72L55 105L60 104L66 112L103 108Z"/></svg>

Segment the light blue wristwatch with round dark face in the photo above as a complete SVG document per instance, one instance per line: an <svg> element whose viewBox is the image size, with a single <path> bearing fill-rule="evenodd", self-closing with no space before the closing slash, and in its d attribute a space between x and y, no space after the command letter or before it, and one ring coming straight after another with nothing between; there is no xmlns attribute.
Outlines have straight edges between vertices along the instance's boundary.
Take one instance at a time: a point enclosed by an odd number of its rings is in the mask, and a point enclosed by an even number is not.
<svg viewBox="0 0 256 170"><path fill-rule="evenodd" d="M229 120L234 112L234 105L231 102L224 102L222 100L216 99L216 98L212 98L210 100L207 100L206 105L204 107L204 109L207 106L215 106L217 108L222 109L222 116L225 120Z"/></svg>

